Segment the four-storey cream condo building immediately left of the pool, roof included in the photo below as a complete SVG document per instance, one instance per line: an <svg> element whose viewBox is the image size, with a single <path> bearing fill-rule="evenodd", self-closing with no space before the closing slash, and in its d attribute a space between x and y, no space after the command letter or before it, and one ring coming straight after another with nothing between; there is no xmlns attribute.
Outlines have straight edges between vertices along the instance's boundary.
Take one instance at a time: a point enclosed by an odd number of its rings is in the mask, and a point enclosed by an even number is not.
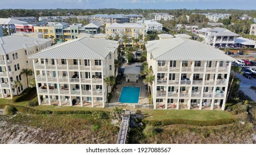
<svg viewBox="0 0 256 155"><path fill-rule="evenodd" d="M36 73L39 105L104 107L104 79L115 75L118 46L114 40L85 37L29 56Z"/></svg>

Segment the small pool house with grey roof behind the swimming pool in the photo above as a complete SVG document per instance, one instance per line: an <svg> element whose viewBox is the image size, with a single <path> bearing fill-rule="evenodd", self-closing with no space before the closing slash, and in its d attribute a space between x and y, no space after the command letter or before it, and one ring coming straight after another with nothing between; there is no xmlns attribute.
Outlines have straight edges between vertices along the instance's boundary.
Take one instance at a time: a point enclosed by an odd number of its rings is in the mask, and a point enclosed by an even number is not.
<svg viewBox="0 0 256 155"><path fill-rule="evenodd" d="M124 74L125 74L126 82L139 82L140 67L139 66L126 66Z"/></svg>

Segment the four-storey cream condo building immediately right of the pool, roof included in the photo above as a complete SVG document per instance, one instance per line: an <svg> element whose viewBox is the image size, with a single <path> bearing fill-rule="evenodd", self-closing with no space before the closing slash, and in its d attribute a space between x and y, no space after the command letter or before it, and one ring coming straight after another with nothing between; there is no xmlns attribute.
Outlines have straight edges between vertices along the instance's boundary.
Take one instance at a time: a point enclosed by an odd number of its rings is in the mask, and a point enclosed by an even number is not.
<svg viewBox="0 0 256 155"><path fill-rule="evenodd" d="M183 38L153 40L146 49L154 108L224 110L233 58Z"/></svg>

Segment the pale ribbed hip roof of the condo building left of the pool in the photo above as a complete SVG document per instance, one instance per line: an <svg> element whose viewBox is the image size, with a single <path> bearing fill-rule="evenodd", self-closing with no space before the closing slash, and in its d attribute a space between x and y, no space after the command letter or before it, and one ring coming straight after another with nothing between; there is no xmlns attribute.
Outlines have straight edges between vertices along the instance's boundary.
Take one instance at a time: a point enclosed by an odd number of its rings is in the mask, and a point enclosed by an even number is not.
<svg viewBox="0 0 256 155"><path fill-rule="evenodd" d="M105 59L118 46L114 40L84 37L50 46L29 58Z"/></svg>

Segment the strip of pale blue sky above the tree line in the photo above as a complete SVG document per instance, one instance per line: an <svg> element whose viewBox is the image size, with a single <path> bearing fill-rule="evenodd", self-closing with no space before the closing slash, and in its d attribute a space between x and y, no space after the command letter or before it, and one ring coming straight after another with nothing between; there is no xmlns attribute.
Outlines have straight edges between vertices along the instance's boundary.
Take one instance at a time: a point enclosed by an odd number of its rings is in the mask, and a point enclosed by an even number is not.
<svg viewBox="0 0 256 155"><path fill-rule="evenodd" d="M0 0L0 9L256 9L256 0Z"/></svg>

